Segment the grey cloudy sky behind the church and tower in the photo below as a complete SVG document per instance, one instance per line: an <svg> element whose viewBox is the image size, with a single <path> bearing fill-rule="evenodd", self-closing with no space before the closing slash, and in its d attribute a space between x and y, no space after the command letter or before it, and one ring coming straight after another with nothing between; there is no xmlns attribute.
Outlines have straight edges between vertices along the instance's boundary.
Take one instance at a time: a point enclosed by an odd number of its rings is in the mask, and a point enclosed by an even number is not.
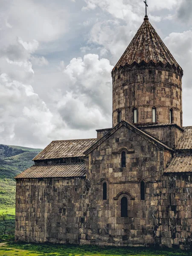
<svg viewBox="0 0 192 256"><path fill-rule="evenodd" d="M0 0L0 143L43 148L112 125L111 70L143 22L143 0ZM192 125L192 0L148 0L184 70Z"/></svg>

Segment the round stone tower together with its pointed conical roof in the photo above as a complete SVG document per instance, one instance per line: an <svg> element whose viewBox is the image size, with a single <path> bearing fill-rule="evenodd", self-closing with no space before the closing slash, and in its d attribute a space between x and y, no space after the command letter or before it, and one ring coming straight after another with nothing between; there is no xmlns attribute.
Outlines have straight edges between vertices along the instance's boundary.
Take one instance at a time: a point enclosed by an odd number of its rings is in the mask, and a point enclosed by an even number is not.
<svg viewBox="0 0 192 256"><path fill-rule="evenodd" d="M146 16L112 71L113 127L122 119L182 126L182 76Z"/></svg>

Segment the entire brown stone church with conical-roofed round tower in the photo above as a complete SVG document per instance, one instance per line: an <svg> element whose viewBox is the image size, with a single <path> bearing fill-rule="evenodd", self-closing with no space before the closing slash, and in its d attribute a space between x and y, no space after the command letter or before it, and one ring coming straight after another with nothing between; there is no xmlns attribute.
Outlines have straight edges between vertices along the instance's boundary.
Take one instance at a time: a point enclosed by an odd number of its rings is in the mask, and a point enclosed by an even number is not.
<svg viewBox="0 0 192 256"><path fill-rule="evenodd" d="M192 248L183 70L147 15L111 74L113 127L52 141L15 177L16 241Z"/></svg>

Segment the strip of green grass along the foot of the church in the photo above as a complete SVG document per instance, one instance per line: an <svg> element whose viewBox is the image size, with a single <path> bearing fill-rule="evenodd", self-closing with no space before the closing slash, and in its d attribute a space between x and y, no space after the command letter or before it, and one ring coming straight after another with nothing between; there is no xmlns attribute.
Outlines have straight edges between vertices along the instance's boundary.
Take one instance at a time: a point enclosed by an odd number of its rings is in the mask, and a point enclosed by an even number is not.
<svg viewBox="0 0 192 256"><path fill-rule="evenodd" d="M192 256L192 252L146 247L98 247L88 245L9 243L0 256Z"/></svg>

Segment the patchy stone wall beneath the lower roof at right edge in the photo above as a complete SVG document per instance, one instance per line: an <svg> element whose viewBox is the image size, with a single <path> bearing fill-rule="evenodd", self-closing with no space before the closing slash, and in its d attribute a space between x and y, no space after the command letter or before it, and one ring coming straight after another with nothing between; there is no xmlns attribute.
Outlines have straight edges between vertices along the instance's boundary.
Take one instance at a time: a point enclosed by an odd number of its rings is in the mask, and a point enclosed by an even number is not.
<svg viewBox="0 0 192 256"><path fill-rule="evenodd" d="M159 193L156 243L162 246L192 249L192 174L163 177Z"/></svg>

